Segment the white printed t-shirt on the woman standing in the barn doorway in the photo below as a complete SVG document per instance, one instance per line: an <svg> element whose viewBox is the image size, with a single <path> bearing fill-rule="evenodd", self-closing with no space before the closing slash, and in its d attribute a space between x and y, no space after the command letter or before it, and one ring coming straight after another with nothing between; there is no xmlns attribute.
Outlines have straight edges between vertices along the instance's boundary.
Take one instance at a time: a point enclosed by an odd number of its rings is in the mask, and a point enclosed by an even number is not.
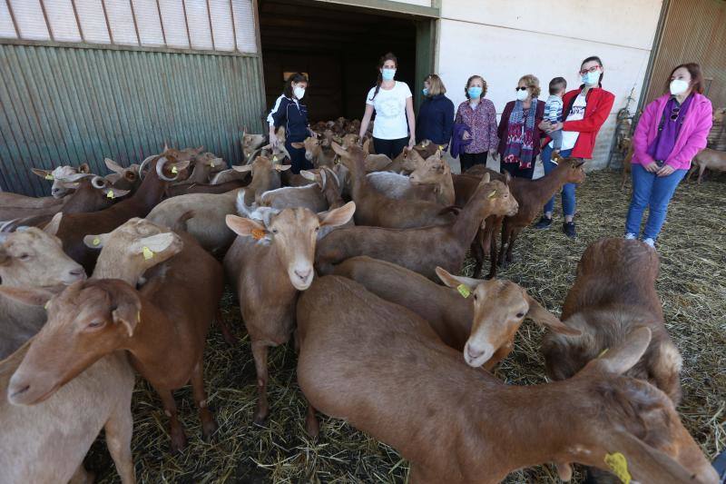
<svg viewBox="0 0 726 484"><path fill-rule="evenodd" d="M406 120L406 100L411 97L408 84L396 81L393 89L378 89L373 101L370 100L376 92L371 87L366 97L366 104L376 109L376 120L373 123L373 137L380 140L398 140L408 137L408 123Z"/></svg>

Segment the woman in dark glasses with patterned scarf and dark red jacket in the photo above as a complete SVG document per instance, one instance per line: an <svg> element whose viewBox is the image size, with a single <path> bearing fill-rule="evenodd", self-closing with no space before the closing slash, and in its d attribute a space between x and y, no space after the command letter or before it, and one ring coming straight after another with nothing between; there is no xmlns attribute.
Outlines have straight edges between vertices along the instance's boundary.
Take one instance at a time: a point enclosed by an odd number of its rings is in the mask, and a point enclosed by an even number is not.
<svg viewBox="0 0 726 484"><path fill-rule="evenodd" d="M502 173L530 180L535 173L535 161L543 136L539 123L544 118L544 103L537 99L539 93L539 79L532 74L523 75L515 87L516 101L505 105L499 123Z"/></svg>

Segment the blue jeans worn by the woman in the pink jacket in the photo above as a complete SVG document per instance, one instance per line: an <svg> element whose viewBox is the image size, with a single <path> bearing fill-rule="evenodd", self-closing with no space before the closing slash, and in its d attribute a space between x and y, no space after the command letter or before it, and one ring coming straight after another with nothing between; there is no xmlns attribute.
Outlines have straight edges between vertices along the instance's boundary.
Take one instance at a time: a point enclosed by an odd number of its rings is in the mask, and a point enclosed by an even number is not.
<svg viewBox="0 0 726 484"><path fill-rule="evenodd" d="M661 232L665 214L668 212L668 202L671 202L678 183L681 183L688 170L676 170L668 176L656 176L648 172L642 164L633 163L633 199L628 209L628 218L625 220L625 233L641 232L643 212L648 207L648 221L645 222L643 239L653 241Z"/></svg>

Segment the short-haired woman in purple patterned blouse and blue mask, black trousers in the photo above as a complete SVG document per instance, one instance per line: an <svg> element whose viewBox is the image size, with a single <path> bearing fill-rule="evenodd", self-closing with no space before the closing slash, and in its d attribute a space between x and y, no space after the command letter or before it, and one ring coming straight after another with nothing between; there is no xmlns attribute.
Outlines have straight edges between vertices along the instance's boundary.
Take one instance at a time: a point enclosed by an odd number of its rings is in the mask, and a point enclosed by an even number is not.
<svg viewBox="0 0 726 484"><path fill-rule="evenodd" d="M454 124L466 124L462 139L471 143L462 147L459 154L461 173L475 164L486 164L486 153L496 155L496 111L494 103L485 99L486 81L481 75L472 75L464 88L466 101L459 104Z"/></svg>

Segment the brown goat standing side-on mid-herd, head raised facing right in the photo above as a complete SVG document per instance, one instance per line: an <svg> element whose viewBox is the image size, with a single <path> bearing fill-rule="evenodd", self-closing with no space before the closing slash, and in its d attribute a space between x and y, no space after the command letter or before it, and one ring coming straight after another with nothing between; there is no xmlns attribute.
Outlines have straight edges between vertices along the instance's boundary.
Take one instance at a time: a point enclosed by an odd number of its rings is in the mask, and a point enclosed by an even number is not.
<svg viewBox="0 0 726 484"><path fill-rule="evenodd" d="M394 262L437 281L436 267L459 272L466 250L482 221L491 214L515 213L517 202L504 183L485 176L475 196L466 203L456 222L416 229L350 227L331 232L320 241L316 255L319 273L356 255Z"/></svg>

